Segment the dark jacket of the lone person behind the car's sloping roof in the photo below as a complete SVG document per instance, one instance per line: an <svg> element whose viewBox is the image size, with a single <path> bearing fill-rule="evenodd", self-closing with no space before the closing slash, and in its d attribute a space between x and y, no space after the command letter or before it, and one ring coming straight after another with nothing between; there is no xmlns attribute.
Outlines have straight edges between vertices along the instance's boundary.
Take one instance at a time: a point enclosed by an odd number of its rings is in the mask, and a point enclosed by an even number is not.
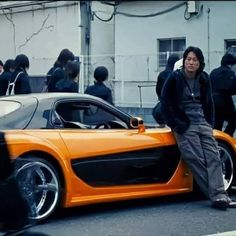
<svg viewBox="0 0 236 236"><path fill-rule="evenodd" d="M95 82L94 85L87 87L85 93L102 98L113 104L111 90L103 82Z"/></svg>

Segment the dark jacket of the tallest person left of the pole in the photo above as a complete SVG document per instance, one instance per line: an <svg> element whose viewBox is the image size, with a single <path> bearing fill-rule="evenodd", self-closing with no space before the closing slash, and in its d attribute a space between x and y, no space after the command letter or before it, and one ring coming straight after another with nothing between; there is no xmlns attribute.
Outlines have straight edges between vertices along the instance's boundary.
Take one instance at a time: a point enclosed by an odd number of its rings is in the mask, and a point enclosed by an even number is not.
<svg viewBox="0 0 236 236"><path fill-rule="evenodd" d="M47 73L48 92L56 92L56 83L65 78L65 70L60 64L54 66Z"/></svg>

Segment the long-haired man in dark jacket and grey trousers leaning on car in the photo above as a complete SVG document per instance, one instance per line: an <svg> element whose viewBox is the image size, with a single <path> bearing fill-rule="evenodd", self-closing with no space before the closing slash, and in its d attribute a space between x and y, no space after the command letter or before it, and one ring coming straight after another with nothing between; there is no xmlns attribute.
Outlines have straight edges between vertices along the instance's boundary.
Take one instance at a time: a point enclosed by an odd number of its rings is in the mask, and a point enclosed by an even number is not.
<svg viewBox="0 0 236 236"><path fill-rule="evenodd" d="M173 71L163 86L161 111L201 191L212 207L226 210L236 208L236 202L225 191L222 163L213 136L211 81L204 66L201 49L188 47L183 54L183 68Z"/></svg>

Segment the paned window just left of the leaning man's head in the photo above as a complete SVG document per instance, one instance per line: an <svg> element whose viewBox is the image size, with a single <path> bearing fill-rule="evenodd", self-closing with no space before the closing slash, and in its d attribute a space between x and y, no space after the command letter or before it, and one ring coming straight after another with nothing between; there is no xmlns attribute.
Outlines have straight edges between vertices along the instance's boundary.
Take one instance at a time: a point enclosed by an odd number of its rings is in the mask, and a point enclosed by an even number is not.
<svg viewBox="0 0 236 236"><path fill-rule="evenodd" d="M158 39L158 67L165 67L168 57L177 53L181 58L186 48L185 38Z"/></svg>

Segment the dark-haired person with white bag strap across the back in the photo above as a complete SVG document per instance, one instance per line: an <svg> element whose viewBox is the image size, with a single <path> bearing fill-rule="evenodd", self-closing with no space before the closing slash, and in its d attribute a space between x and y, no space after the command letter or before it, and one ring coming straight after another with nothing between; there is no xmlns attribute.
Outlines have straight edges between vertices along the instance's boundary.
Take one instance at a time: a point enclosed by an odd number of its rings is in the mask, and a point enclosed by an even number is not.
<svg viewBox="0 0 236 236"><path fill-rule="evenodd" d="M19 54L15 60L15 71L12 73L10 83L15 81L14 94L31 93L28 70L29 59L25 54Z"/></svg>

